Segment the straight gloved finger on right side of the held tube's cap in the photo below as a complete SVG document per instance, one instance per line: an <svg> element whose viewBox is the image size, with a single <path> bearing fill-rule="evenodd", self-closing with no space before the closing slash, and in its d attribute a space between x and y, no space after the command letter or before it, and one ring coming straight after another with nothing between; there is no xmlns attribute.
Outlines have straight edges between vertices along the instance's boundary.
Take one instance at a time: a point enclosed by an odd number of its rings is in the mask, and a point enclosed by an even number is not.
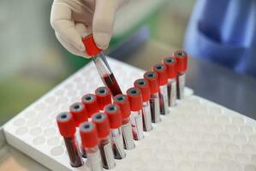
<svg viewBox="0 0 256 171"><path fill-rule="evenodd" d="M92 20L92 33L98 48L105 50L113 32L117 3L116 0L96 0Z"/></svg>

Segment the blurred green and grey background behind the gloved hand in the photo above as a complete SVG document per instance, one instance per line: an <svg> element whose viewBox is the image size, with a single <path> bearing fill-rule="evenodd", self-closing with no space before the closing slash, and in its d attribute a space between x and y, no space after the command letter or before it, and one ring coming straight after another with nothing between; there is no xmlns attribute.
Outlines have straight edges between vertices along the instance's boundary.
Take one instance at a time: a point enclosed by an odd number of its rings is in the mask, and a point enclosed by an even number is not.
<svg viewBox="0 0 256 171"><path fill-rule="evenodd" d="M71 55L57 42L50 25L51 3L0 1L0 126L88 62ZM117 14L106 53L128 62L123 54L147 41L181 48L193 3L131 0ZM138 34L142 35L138 44L127 46Z"/></svg>

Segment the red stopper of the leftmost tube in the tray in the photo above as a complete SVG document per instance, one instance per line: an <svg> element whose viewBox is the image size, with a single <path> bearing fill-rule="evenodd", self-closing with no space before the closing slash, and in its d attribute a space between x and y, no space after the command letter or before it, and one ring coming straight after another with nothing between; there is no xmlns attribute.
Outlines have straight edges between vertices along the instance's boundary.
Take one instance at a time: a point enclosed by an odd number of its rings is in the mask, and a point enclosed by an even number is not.
<svg viewBox="0 0 256 171"><path fill-rule="evenodd" d="M68 112L57 115L57 127L63 137L73 137L75 133L74 119Z"/></svg>

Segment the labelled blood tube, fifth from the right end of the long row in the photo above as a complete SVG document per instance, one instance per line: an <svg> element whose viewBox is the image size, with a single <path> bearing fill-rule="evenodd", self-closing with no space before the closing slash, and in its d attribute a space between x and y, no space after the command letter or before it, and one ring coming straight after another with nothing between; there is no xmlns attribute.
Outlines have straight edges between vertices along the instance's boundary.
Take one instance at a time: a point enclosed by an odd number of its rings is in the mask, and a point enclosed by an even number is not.
<svg viewBox="0 0 256 171"><path fill-rule="evenodd" d="M142 94L142 120L143 120L143 130L144 131L151 131L152 130L152 116L151 116L151 109L150 109L150 86L148 81L145 79L135 80L134 87L140 89Z"/></svg>

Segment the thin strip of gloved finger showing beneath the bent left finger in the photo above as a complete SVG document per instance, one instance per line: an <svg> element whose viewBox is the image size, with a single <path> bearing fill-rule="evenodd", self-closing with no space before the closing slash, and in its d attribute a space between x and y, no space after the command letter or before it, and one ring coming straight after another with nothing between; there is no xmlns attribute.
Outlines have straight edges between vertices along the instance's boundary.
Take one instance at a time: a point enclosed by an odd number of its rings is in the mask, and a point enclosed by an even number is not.
<svg viewBox="0 0 256 171"><path fill-rule="evenodd" d="M74 54L75 56L83 56L86 58L90 58L90 56L87 56L86 51L80 51L77 50L72 44L69 44L60 34L56 32L56 37L58 41L63 45L64 48L66 48L70 53Z"/></svg>

